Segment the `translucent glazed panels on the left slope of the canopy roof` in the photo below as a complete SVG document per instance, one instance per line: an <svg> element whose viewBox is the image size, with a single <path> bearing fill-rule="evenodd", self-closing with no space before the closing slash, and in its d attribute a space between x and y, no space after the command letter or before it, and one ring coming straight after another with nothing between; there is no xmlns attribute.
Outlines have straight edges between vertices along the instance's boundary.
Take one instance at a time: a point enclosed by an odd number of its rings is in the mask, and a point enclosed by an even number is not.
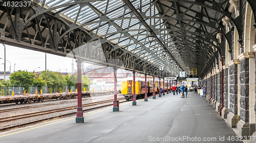
<svg viewBox="0 0 256 143"><path fill-rule="evenodd" d="M44 1L40 1L44 2ZM49 7L57 7L74 1L64 0L46 0L45 5ZM76 1L75 1L76 2ZM155 6L151 6L151 1L142 1L142 12L144 16L159 17L158 10ZM140 1L131 1L131 3L140 11ZM85 3L83 5L66 6L56 9L62 14L76 20L80 24L90 28L89 33L96 35L96 39L108 39L116 43L120 48L125 48L127 51L139 55L152 64L164 67L173 75L178 74L178 68L171 63L172 60L169 54L164 54L165 49L154 40L149 42L147 36L150 32L146 27L136 18L134 13L121 1L96 1ZM164 30L166 25L160 18L145 18L145 21L158 30L156 33L158 38L163 39L168 47L173 46L170 42L171 36L167 35L168 31ZM175 53L176 48L169 48L169 51ZM177 56L179 53L177 53Z"/></svg>

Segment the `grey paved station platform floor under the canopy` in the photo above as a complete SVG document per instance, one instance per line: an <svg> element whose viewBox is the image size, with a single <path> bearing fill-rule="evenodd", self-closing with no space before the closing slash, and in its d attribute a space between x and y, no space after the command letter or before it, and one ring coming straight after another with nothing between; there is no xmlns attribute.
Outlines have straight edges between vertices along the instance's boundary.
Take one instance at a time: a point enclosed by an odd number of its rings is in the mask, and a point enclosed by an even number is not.
<svg viewBox="0 0 256 143"><path fill-rule="evenodd" d="M204 97L188 92L165 94L84 113L85 123L75 117L0 133L0 142L243 142L236 137ZM200 139L200 141L199 141ZM224 139L224 140L223 140Z"/></svg>

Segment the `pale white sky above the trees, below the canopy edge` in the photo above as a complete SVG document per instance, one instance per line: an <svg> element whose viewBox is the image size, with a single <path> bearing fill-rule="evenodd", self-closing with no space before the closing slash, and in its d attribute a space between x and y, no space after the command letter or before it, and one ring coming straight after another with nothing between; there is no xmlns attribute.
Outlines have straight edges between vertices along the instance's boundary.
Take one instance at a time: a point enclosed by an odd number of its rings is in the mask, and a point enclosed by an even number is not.
<svg viewBox="0 0 256 143"><path fill-rule="evenodd" d="M4 46L0 44L0 71L4 71ZM54 54L46 54L47 57L47 70L58 71L58 72L72 72L71 58L66 58L63 56L58 56ZM2 58L2 59L1 59ZM11 63L11 73L18 70L32 71L44 71L45 70L45 53L39 51L28 50L24 48L14 47L6 45L6 71L10 71ZM10 63L9 63L9 62ZM91 64L84 63L84 67L91 67ZM40 68L38 68L40 67ZM67 70L66 70L67 69ZM76 70L76 62L74 60L74 70Z"/></svg>

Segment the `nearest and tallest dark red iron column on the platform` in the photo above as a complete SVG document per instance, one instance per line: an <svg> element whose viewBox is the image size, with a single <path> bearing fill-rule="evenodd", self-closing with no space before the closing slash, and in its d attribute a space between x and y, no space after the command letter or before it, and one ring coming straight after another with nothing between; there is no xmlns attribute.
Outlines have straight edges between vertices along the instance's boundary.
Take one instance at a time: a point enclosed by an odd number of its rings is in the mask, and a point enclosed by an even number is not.
<svg viewBox="0 0 256 143"><path fill-rule="evenodd" d="M83 112L82 112L82 74L81 65L82 61L77 60L77 112L76 112L76 123L83 123Z"/></svg>

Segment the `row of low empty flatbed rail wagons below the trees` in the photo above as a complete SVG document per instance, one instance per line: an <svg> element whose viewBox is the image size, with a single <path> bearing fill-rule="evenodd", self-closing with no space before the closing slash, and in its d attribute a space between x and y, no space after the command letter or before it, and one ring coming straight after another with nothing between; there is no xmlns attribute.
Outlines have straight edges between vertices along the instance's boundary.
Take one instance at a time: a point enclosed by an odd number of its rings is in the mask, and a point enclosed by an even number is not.
<svg viewBox="0 0 256 143"><path fill-rule="evenodd" d="M82 92L82 97L90 97L90 92ZM52 93L52 94L38 94L36 95L15 95L15 96L0 96L0 104L5 103L31 103L31 102L44 102L50 99L69 99L76 98L77 92L74 93Z"/></svg>

